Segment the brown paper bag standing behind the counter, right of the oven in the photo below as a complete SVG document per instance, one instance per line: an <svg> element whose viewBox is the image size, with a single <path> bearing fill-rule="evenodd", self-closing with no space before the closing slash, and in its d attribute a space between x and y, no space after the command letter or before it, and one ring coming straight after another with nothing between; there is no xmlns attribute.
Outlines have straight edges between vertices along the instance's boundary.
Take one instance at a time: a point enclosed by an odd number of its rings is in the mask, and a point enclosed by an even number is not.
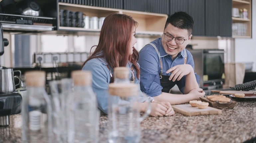
<svg viewBox="0 0 256 143"><path fill-rule="evenodd" d="M243 63L225 63L225 84L224 88L234 87L242 84L245 75L245 65Z"/></svg>

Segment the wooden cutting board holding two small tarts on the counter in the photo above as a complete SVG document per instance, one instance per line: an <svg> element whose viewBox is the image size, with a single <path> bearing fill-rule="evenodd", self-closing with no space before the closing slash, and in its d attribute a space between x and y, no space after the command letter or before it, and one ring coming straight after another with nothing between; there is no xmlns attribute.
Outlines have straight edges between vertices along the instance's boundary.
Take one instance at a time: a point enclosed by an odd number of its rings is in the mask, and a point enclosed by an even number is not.
<svg viewBox="0 0 256 143"><path fill-rule="evenodd" d="M207 107L205 109L199 109L197 107L192 107L190 104L185 105L172 105L175 112L181 113L185 116L201 116L201 115L219 115L221 110L212 107Z"/></svg>

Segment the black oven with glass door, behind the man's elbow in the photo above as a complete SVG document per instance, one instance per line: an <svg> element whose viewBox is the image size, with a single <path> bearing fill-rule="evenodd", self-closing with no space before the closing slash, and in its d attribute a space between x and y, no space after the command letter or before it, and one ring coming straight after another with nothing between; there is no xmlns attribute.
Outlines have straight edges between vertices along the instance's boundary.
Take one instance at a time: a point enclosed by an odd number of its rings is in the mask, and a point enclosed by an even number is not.
<svg viewBox="0 0 256 143"><path fill-rule="evenodd" d="M222 89L224 76L224 50L189 50L194 59L194 72L200 76L200 88L207 90ZM208 91L207 91L208 92Z"/></svg>

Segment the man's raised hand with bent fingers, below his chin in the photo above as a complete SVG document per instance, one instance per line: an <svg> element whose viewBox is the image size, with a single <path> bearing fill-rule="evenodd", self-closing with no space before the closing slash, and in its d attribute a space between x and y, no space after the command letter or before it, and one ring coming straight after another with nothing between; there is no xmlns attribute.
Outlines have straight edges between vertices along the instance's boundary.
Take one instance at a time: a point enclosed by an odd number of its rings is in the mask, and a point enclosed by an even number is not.
<svg viewBox="0 0 256 143"><path fill-rule="evenodd" d="M194 74L194 70L190 64L180 64L170 68L166 73L172 73L169 80L175 81L177 79L179 81L185 75Z"/></svg>

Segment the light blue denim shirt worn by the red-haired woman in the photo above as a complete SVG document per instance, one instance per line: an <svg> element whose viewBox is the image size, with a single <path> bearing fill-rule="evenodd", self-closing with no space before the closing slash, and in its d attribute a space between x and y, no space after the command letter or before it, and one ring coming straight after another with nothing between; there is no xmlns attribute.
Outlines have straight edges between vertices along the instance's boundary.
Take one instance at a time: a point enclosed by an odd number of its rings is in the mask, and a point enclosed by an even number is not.
<svg viewBox="0 0 256 143"><path fill-rule="evenodd" d="M108 109L108 95L109 95L108 94L108 86L110 83L110 73L109 73L109 70L106 65L108 65L108 64L104 58L93 58L93 59L87 61L82 68L82 70L91 71L91 73L92 73L92 89L93 89L93 92L96 93L98 108L101 111L103 111L105 114L107 114L107 109ZM128 62L126 67L128 67L130 69L131 65L132 64L130 62ZM110 70L113 74L113 69L110 68ZM129 73L130 73L129 77L131 77L131 72L129 72ZM134 75L135 75L135 77L137 77L136 70L134 70ZM140 86L139 85L140 78L139 79L135 78L135 84L138 84L138 86ZM140 94L139 102L141 102L141 103L146 101L147 99L153 100L152 97L143 97L141 90L139 90L139 94ZM123 101L119 98L114 102L120 103L120 102L127 102L127 101Z"/></svg>

